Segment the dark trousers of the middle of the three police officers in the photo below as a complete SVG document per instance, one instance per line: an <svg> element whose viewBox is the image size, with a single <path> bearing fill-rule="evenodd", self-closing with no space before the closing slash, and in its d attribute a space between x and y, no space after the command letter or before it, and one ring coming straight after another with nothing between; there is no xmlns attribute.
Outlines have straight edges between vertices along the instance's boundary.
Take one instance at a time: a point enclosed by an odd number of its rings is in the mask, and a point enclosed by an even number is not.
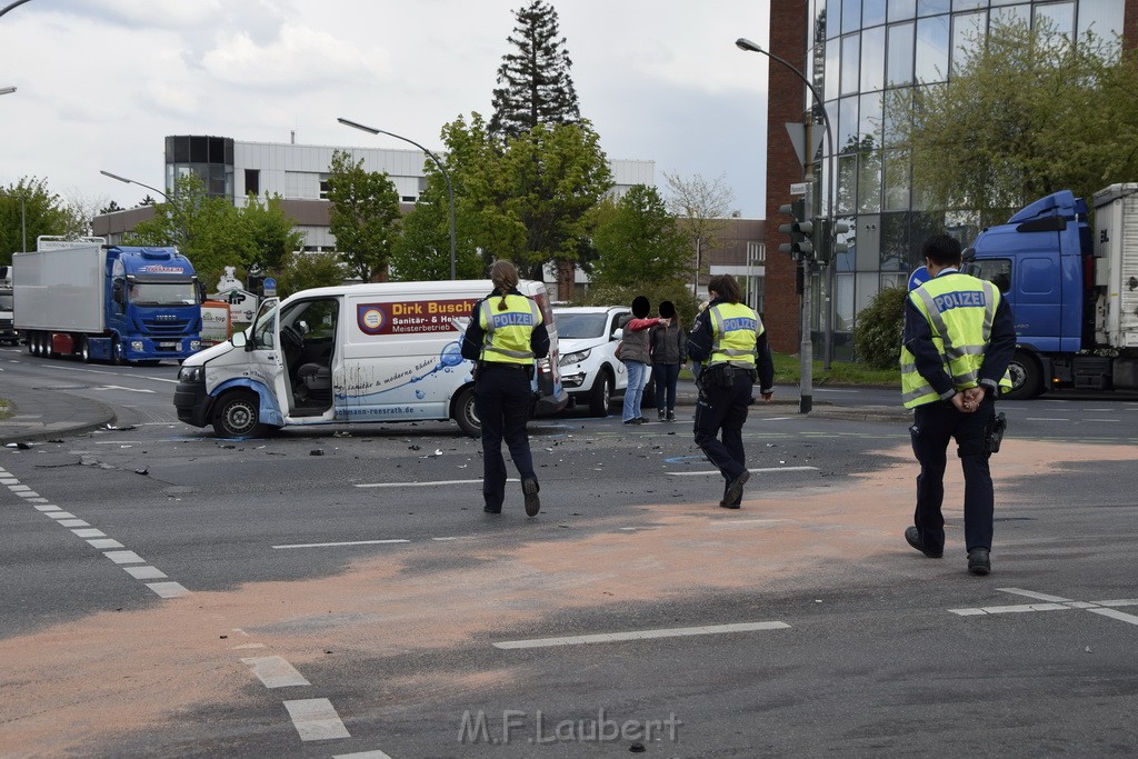
<svg viewBox="0 0 1138 759"><path fill-rule="evenodd" d="M704 370L710 371L710 370ZM747 452L743 449L743 422L751 405L754 380L745 370L735 371L731 387L707 387L700 389L695 402L695 445L723 473L726 482L747 471ZM718 439L723 430L723 439Z"/></svg>

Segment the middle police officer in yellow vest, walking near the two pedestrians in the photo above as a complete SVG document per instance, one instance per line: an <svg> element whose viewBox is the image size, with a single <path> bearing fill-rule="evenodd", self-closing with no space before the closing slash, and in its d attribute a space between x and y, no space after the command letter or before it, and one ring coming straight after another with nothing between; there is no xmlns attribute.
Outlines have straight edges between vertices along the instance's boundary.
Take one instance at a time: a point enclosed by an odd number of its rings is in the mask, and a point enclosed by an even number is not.
<svg viewBox="0 0 1138 759"><path fill-rule="evenodd" d="M731 274L717 274L708 282L711 303L695 319L687 338L687 355L703 362L696 385L695 445L723 475L724 509L739 509L743 485L750 478L743 448L743 423L753 403L754 382L762 399L774 396L774 362L767 347L762 320L740 303L742 294ZM718 439L723 430L723 439Z"/></svg>

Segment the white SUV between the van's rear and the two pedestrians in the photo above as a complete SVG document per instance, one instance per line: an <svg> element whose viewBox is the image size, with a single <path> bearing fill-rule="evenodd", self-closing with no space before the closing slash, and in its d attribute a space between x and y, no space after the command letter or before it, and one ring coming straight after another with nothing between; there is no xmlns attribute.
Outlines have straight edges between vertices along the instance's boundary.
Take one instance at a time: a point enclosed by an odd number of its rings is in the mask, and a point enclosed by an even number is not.
<svg viewBox="0 0 1138 759"><path fill-rule="evenodd" d="M593 414L603 416L612 399L625 394L628 373L615 354L620 341L617 321L629 313L628 306L553 308L561 386L569 393L570 404L587 403Z"/></svg>

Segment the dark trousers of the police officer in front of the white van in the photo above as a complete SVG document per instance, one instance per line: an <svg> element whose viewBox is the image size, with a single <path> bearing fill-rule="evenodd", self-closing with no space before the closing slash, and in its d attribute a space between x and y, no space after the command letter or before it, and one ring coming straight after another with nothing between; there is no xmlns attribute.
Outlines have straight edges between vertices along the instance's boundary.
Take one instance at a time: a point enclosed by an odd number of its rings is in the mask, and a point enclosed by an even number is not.
<svg viewBox="0 0 1138 759"><path fill-rule="evenodd" d="M485 362L479 368L475 383L475 411L483 426L483 498L492 509L501 509L505 500L503 438L521 479L537 479L526 436L526 422L529 421L533 404L534 394L525 366Z"/></svg>

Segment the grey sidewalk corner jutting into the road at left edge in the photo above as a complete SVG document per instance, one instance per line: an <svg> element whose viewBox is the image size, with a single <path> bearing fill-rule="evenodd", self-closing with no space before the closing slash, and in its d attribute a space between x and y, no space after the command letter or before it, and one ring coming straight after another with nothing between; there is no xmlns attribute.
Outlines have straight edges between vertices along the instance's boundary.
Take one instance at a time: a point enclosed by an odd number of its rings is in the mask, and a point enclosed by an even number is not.
<svg viewBox="0 0 1138 759"><path fill-rule="evenodd" d="M0 445L53 440L113 424L115 412L98 401L58 390L6 383L0 397L9 402L7 419L0 419Z"/></svg>

